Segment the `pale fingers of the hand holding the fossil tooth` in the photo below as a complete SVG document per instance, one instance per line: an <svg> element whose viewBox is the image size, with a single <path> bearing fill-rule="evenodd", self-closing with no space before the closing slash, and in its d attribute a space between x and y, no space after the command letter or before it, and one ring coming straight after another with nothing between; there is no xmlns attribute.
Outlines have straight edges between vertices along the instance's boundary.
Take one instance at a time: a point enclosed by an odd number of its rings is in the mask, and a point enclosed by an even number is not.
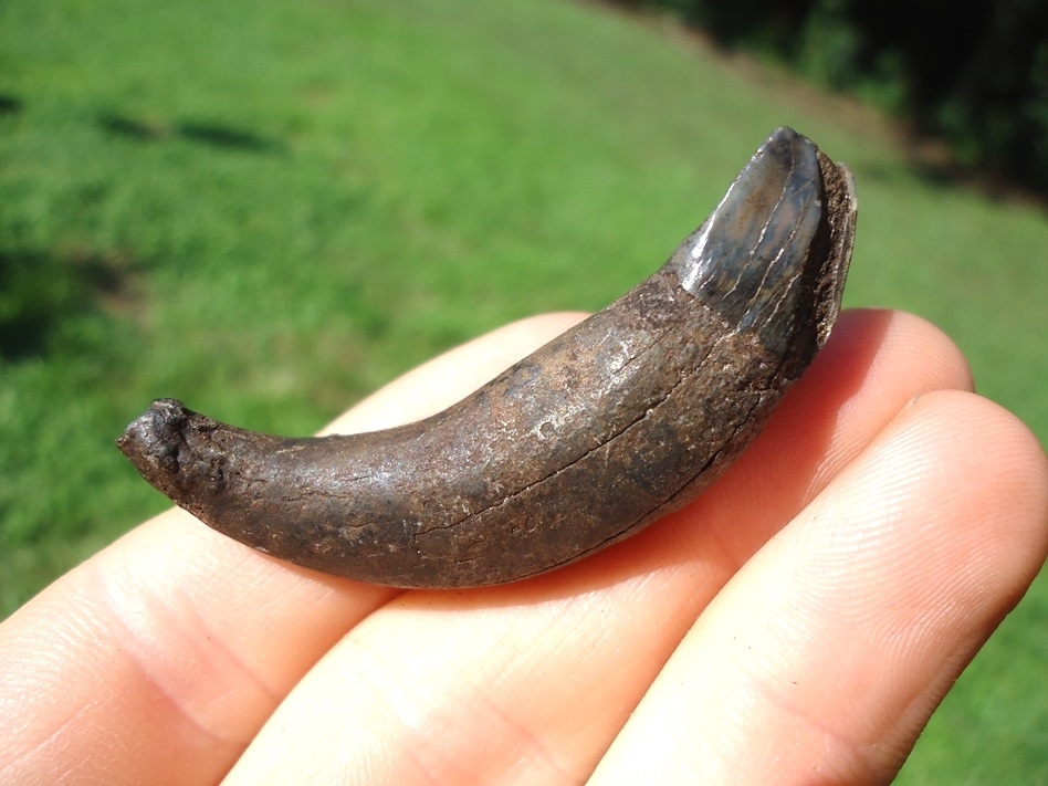
<svg viewBox="0 0 1048 786"><path fill-rule="evenodd" d="M332 430L442 409L578 318ZM934 327L846 313L706 495L489 589L332 578L169 511L0 626L0 783L888 783L1048 552L1045 453L971 390Z"/></svg>

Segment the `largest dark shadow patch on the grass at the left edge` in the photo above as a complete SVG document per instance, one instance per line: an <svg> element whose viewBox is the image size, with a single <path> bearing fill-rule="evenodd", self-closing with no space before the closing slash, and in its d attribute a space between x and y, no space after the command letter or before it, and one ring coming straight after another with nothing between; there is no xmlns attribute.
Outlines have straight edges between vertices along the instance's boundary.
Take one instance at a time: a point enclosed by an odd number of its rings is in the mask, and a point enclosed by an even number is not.
<svg viewBox="0 0 1048 786"><path fill-rule="evenodd" d="M137 300L138 268L122 254L0 249L0 358L50 355L61 339L76 340L78 318L126 311Z"/></svg>

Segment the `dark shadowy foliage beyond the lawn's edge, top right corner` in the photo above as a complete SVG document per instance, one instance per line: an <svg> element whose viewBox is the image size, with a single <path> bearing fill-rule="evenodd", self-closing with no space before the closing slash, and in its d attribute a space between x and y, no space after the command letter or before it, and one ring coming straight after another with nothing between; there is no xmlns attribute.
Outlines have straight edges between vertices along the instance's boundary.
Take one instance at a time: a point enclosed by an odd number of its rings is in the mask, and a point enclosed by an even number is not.
<svg viewBox="0 0 1048 786"><path fill-rule="evenodd" d="M958 164L1048 192L1042 0L622 4L669 8L724 46L773 52L838 90L872 87L915 128L949 142Z"/></svg>

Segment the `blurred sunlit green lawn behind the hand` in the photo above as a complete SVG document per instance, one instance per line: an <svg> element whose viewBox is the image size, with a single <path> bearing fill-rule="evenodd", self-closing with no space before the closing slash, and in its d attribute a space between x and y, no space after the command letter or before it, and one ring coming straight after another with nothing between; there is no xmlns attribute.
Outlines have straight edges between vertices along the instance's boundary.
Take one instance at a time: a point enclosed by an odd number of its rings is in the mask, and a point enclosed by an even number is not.
<svg viewBox="0 0 1048 786"><path fill-rule="evenodd" d="M871 111L568 0L0 4L0 617L167 506L155 397L310 433L507 321L653 271L767 133L853 169L846 305L939 324L1048 440L1048 218ZM1048 784L1048 581L902 784Z"/></svg>

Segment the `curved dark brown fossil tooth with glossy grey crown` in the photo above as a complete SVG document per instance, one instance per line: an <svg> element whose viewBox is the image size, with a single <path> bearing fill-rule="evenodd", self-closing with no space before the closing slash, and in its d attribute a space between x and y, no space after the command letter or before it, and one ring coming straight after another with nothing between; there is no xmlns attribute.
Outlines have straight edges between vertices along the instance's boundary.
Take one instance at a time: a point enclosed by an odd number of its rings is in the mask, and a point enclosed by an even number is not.
<svg viewBox="0 0 1048 786"><path fill-rule="evenodd" d="M682 506L748 446L829 334L855 217L848 170L779 128L662 269L443 412L283 439L163 399L118 444L210 526L310 568L534 576Z"/></svg>

